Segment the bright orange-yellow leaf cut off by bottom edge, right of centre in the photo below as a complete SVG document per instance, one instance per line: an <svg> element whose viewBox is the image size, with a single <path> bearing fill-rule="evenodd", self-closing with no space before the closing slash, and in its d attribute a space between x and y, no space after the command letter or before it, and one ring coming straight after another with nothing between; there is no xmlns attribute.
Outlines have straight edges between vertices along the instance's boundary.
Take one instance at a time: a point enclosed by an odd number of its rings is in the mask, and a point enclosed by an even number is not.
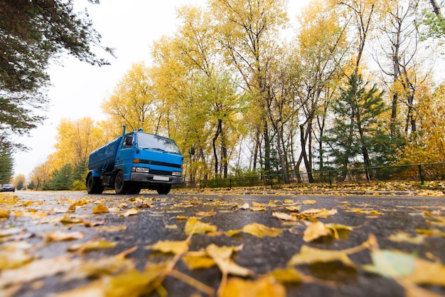
<svg viewBox="0 0 445 297"><path fill-rule="evenodd" d="M223 287L222 297L285 297L286 288L274 278L264 276L254 281L229 278Z"/></svg>

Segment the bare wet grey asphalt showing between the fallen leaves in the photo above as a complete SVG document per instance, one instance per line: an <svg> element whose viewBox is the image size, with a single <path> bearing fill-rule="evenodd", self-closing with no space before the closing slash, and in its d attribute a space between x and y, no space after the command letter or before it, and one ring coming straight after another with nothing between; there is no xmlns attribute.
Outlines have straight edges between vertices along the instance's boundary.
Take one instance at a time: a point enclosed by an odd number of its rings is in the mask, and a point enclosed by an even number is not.
<svg viewBox="0 0 445 297"><path fill-rule="evenodd" d="M264 236L259 238L250 234L241 233L236 236L216 234L195 234L191 239L190 251L205 249L209 244L218 246L239 246L243 249L237 251L232 259L240 266L246 267L254 273L263 274L277 268L284 268L294 254L299 253L301 246L306 244L318 249L342 250L359 246L366 241L370 234L376 236L380 249L397 249L408 253L415 253L422 259L428 259L434 255L445 263L445 237L429 236L423 244L411 244L407 242L395 242L388 236L400 231L413 236L418 229L439 229L445 232L445 226L431 226L426 214L444 217L444 197L353 197L353 196L297 196L294 194L181 194L172 193L158 195L154 192L146 192L139 195L88 195L81 192L16 192L22 209L47 214L45 219L36 217L9 217L0 221L0 229L8 229L11 226L24 228L27 234L32 234L26 239L33 246L42 244L43 235L54 230L68 230L63 224L55 224L51 219L64 216L77 216L90 222L101 222L104 226L125 225L127 229L114 232L99 232L94 228L84 225L73 225L70 231L81 231L85 234L78 241L89 241L100 237L108 241L117 242L117 246L111 249L101 249L82 254L82 259L101 259L106 256L114 256L137 246L135 251L129 254L134 259L138 269L144 269L147 262L159 262L171 259L171 255L161 254L157 251L144 249L144 246L154 244L160 240L185 240L184 232L186 217L199 217L202 214L213 213L211 217L200 217L201 222L218 226L218 231L241 229L250 223L264 224L265 226L284 229L281 236L274 238ZM82 207L77 207L73 213L64 213L76 201L87 202ZM315 200L314 204L304 204L306 200ZM31 203L32 202L32 203ZM336 209L337 213L326 219L319 219L323 223L336 223L353 226L353 231L340 239L326 238L304 242L303 232L306 224L289 224L272 215L273 212L289 213L284 209L286 204L301 205L301 212L306 209ZM105 212L92 214L92 208L102 203L112 209L120 209L120 212ZM240 209L243 204L249 204L250 209ZM254 209L255 206L264 209ZM253 207L253 208L252 208ZM18 209L16 207L15 209ZM129 217L121 217L128 209L138 209L139 213ZM176 225L176 229L171 226ZM72 241L59 241L53 244L41 246L32 251L34 256L41 258L54 258L68 254L67 247ZM79 256L79 255L77 255ZM323 280L315 283L291 283L286 284L286 296L405 296L404 289L391 278L384 278L360 269L363 264L370 264L370 251L363 250L350 255L350 259L358 267L352 269L343 264L314 264L297 266L296 269L308 276ZM176 266L193 278L207 284L215 290L220 285L221 273L213 266L210 269L189 270L182 261ZM1 277L1 274L0 274ZM445 277L445 276L444 276ZM25 283L14 296L48 296L49 293L67 291L89 283L88 279L78 281L63 281L63 275L44 278L41 286L34 283ZM168 291L168 296L192 296L195 288L186 283L167 277L163 287ZM445 296L445 288L442 286L422 286L429 291ZM151 293L149 296L158 296ZM198 296L205 296L200 293Z"/></svg>

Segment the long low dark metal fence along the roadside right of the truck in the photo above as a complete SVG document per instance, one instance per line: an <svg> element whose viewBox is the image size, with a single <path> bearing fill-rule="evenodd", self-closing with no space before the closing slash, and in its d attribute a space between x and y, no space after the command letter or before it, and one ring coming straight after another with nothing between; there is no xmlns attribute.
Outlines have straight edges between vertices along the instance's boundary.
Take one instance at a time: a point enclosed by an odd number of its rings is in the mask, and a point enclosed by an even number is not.
<svg viewBox="0 0 445 297"><path fill-rule="evenodd" d="M200 179L186 181L176 188L232 188L232 187L276 187L283 184L336 184L340 182L371 181L426 181L445 180L445 162L397 165L387 167L354 168L348 170L314 170L289 174L262 174L227 179Z"/></svg>

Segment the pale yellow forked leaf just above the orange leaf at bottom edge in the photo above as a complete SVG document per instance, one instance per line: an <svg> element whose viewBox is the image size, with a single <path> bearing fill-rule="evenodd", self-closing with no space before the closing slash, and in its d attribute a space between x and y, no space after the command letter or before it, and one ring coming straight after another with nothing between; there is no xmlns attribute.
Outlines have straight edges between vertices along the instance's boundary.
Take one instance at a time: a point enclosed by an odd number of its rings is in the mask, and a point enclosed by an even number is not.
<svg viewBox="0 0 445 297"><path fill-rule="evenodd" d="M242 266L236 264L230 257L233 252L240 251L241 246L217 246L215 244L210 244L205 248L205 253L208 254L213 260L215 260L216 265L220 269L223 276L227 274L232 274L235 276L250 276L252 271Z"/></svg>

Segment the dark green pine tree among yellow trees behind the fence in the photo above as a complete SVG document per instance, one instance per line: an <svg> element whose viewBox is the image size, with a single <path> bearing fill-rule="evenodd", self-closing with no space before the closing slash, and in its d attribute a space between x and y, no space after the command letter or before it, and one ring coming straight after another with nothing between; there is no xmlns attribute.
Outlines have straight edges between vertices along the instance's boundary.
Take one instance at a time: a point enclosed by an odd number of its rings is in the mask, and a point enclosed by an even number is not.
<svg viewBox="0 0 445 297"><path fill-rule="evenodd" d="M375 85L368 88L361 75L352 75L348 87L341 90L328 142L331 159L344 170L342 179L352 164L365 167L367 179L372 179L374 174L368 168L385 164L392 155L390 135L382 121L386 111L382 95Z"/></svg>

